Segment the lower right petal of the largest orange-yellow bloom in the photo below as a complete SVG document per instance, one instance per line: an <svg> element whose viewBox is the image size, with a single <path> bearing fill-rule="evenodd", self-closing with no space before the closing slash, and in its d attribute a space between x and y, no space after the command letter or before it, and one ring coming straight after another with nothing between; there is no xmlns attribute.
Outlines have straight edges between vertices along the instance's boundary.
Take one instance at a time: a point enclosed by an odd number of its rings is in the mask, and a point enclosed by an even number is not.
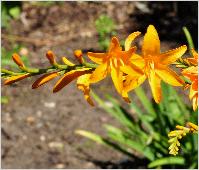
<svg viewBox="0 0 199 170"><path fill-rule="evenodd" d="M166 83L172 86L183 86L184 81L171 69L159 66L155 69L156 74Z"/></svg>

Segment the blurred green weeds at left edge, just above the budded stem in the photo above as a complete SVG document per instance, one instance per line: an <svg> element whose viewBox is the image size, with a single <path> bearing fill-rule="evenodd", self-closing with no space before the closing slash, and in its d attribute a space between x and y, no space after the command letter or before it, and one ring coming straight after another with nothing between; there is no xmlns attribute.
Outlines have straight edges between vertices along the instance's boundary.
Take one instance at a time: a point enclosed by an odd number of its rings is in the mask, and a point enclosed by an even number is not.
<svg viewBox="0 0 199 170"><path fill-rule="evenodd" d="M1 66L9 66L14 69L18 69L18 66L12 62L12 54L13 53L19 53L19 51L23 48L23 46L15 44L12 48L12 50L6 50L4 47L1 48ZM29 60L27 56L21 56L22 61L25 65L29 65Z"/></svg>

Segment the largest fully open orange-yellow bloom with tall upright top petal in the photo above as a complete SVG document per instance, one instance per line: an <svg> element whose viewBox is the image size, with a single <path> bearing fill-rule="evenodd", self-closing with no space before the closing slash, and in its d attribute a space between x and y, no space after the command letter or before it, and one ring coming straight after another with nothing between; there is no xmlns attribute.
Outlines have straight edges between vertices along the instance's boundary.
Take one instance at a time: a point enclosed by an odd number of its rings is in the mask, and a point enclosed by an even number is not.
<svg viewBox="0 0 199 170"><path fill-rule="evenodd" d="M180 79L180 77L168 66L180 58L186 50L186 45L183 45L179 48L160 53L160 40L158 33L153 25L149 25L144 36L142 55L139 56L135 54L131 57L131 62L144 71L144 75L137 80L138 83L134 84L136 86L137 84L140 85L146 78L148 78L153 98L156 103L159 103L162 97L162 80L173 86L182 86L184 84L184 81ZM131 75L131 72L128 74ZM130 77L128 81L131 81ZM133 79L132 82L134 82ZM133 89L135 86L134 84L130 87L127 83L126 88Z"/></svg>

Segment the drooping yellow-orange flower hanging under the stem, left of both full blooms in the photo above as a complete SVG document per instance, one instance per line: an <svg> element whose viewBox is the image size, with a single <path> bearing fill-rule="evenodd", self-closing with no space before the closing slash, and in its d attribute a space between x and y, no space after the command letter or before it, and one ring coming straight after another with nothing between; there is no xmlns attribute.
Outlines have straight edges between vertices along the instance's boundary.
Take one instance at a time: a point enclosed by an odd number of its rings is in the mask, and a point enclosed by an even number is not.
<svg viewBox="0 0 199 170"><path fill-rule="evenodd" d="M84 98L86 99L86 101L91 105L91 106L94 106L94 103L93 101L91 100L91 97L90 97L90 82L89 82L89 79L90 79L90 76L91 74L84 74L80 77L78 77L77 79L77 88L82 90L83 93L84 93Z"/></svg>

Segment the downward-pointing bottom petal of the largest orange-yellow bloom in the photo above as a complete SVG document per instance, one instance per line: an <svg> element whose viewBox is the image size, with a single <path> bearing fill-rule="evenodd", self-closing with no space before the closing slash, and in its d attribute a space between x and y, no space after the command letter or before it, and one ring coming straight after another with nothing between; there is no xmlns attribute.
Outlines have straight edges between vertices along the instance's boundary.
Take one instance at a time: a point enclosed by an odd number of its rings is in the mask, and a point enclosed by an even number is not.
<svg viewBox="0 0 199 170"><path fill-rule="evenodd" d="M156 103L160 103L162 99L161 79L155 74L154 71L149 73L149 85Z"/></svg>

